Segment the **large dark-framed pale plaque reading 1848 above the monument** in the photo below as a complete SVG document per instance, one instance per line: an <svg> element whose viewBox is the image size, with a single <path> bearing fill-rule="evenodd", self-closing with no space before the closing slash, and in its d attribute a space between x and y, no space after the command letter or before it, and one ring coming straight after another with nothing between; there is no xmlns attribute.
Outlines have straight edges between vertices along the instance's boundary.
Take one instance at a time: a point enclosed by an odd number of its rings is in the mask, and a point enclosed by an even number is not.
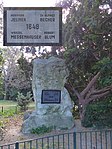
<svg viewBox="0 0 112 149"><path fill-rule="evenodd" d="M62 9L5 7L4 45L61 45Z"/></svg>

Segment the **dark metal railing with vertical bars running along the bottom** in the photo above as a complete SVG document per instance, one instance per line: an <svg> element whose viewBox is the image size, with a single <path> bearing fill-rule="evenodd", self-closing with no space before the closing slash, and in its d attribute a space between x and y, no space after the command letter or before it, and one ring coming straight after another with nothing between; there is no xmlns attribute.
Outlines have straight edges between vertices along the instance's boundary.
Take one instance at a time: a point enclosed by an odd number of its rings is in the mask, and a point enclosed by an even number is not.
<svg viewBox="0 0 112 149"><path fill-rule="evenodd" d="M56 134L2 145L0 149L112 149L112 130Z"/></svg>

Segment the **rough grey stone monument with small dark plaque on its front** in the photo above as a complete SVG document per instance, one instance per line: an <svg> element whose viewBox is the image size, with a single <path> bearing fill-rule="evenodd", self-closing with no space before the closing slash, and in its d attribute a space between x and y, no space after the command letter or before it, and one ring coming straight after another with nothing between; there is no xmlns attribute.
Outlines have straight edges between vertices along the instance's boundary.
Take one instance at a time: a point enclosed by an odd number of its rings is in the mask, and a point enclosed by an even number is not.
<svg viewBox="0 0 112 149"><path fill-rule="evenodd" d="M58 130L74 126L73 103L64 87L68 75L63 59L50 57L33 61L32 89L36 109L24 121L23 133L30 133L32 128L42 125Z"/></svg>

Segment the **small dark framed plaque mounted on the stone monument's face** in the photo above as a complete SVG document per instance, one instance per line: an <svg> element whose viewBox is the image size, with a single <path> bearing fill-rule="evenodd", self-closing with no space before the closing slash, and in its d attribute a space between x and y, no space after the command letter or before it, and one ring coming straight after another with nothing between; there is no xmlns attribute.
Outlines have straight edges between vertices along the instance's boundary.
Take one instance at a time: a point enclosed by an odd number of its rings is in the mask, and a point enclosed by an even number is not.
<svg viewBox="0 0 112 149"><path fill-rule="evenodd" d="M61 102L61 90L42 90L42 104L59 104Z"/></svg>

